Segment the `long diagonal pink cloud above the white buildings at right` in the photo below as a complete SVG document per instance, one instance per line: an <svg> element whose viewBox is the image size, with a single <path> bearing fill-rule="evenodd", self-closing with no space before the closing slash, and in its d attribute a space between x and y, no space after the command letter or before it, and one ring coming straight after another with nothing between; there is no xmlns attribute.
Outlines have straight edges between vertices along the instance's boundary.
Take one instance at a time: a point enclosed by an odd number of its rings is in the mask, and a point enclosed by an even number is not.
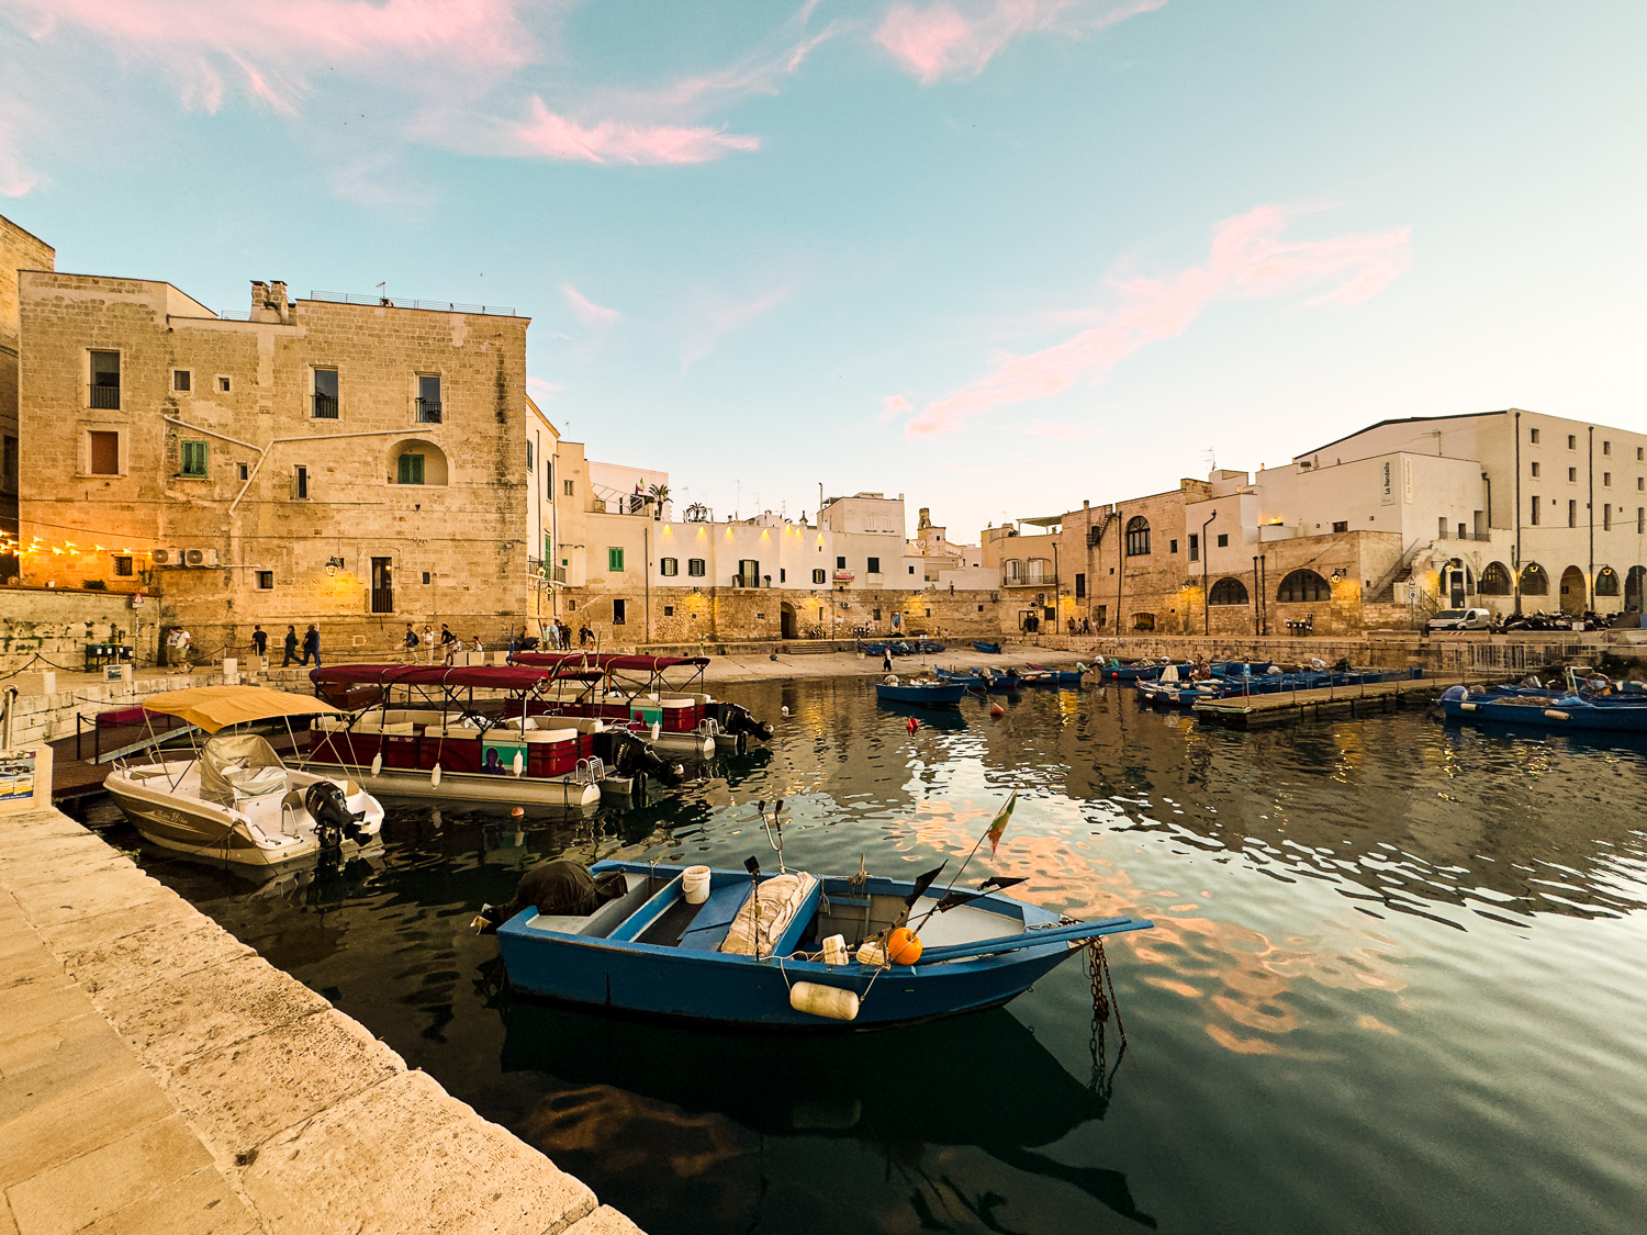
<svg viewBox="0 0 1647 1235"><path fill-rule="evenodd" d="M954 433L1006 403L1062 394L1123 359L1183 334L1220 300L1258 300L1329 285L1311 305L1359 305L1393 283L1411 262L1411 227L1327 240L1283 240L1299 211L1258 206L1212 231L1206 262L1158 278L1112 278L1115 303L1094 311L1090 329L1028 356L1006 356L990 375L927 403L904 436Z"/></svg>

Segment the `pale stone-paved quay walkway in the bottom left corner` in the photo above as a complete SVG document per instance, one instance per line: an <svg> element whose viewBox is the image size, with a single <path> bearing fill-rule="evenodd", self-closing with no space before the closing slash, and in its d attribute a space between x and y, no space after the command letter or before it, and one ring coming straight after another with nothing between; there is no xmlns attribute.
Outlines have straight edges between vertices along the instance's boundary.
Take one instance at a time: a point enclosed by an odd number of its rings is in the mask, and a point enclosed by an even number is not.
<svg viewBox="0 0 1647 1235"><path fill-rule="evenodd" d="M100 838L0 818L0 1235L636 1230Z"/></svg>

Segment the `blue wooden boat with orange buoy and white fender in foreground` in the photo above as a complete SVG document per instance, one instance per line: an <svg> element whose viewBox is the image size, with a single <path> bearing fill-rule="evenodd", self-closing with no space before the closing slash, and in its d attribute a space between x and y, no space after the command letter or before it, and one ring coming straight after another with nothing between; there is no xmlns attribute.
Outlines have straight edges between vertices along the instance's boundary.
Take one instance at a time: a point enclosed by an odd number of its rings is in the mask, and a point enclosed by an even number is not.
<svg viewBox="0 0 1647 1235"><path fill-rule="evenodd" d="M708 876L708 899L692 904L685 871L603 861L590 874L621 874L626 892L619 899L581 917L520 911L497 930L511 986L611 1013L708 1026L878 1029L995 1008L1077 955L1082 944L1153 925L1130 917L1064 922L1047 909L988 892L932 914L919 927L917 963L866 965L855 958L858 945L901 920L906 899L917 891L912 883L716 869ZM764 901L756 902L758 891ZM911 920L934 909L942 891L917 897ZM847 963L812 958L833 935L845 939Z"/></svg>

